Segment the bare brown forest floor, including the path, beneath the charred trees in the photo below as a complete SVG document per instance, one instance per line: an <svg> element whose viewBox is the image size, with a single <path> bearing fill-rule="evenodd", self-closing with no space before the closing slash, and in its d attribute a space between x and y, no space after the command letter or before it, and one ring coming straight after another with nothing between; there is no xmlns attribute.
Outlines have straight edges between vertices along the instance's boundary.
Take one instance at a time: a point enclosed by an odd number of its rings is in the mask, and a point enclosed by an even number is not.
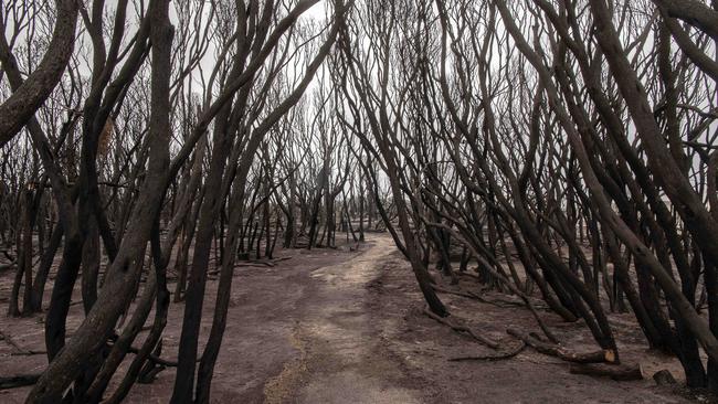
<svg viewBox="0 0 718 404"><path fill-rule="evenodd" d="M228 327L212 384L214 403L687 403L680 389L656 386L651 375L668 369L680 379L675 359L647 351L632 315L612 315L622 361L641 363L646 380L615 382L569 373L567 362L526 348L501 361L448 361L492 354L492 350L423 315L423 301L409 265L386 234L369 234L359 251L282 251L292 256L275 266L239 267ZM8 296L11 274L0 278ZM439 277L439 275L436 275ZM478 290L475 280L461 287ZM212 321L217 280L208 281L202 333ZM173 285L170 285L173 290ZM486 301L441 297L454 318L510 349L507 328L538 330L526 308L506 295L484 293ZM7 302L0 305L3 309ZM567 347L595 350L581 322L563 323L540 311ZM177 353L182 305L171 306L162 357ZM82 321L72 306L68 329ZM28 350L42 351L42 317L9 319L0 330ZM200 348L203 341L200 341ZM44 354L17 355L0 341L0 375L36 373ZM127 402L166 403L173 383L168 369L151 384L137 384ZM112 389L112 387L110 387ZM0 403L21 403L29 387L0 391Z"/></svg>

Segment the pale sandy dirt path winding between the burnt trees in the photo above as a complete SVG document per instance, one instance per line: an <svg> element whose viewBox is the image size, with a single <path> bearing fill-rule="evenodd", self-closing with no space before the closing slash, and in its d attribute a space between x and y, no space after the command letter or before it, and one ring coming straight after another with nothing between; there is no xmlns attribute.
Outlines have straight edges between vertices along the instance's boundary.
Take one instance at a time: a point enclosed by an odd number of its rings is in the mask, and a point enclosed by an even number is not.
<svg viewBox="0 0 718 404"><path fill-rule="evenodd" d="M388 237L348 263L312 272L293 341L300 358L265 387L268 403L419 403L419 393L378 337L367 288L394 251Z"/></svg>

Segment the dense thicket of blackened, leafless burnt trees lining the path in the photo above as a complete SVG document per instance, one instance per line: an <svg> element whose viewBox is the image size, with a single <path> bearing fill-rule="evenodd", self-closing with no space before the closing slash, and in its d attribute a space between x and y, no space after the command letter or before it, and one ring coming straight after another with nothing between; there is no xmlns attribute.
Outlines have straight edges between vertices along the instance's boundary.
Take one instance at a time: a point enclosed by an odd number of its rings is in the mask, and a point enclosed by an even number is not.
<svg viewBox="0 0 718 404"><path fill-rule="evenodd" d="M534 298L582 319L617 363L609 316L631 311L718 392L718 2L0 12L0 270L9 316L44 313L50 363L28 402L119 402L158 361L177 365L172 402L209 402L237 263L372 230L436 318L443 279L474 276L549 340Z"/></svg>

